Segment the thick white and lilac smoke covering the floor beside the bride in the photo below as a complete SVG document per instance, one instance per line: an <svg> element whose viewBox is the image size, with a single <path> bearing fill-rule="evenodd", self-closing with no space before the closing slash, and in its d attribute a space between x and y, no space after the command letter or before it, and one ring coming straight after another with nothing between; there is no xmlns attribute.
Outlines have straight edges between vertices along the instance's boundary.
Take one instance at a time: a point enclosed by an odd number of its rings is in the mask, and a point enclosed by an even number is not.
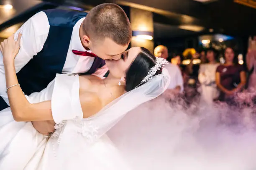
<svg viewBox="0 0 256 170"><path fill-rule="evenodd" d="M133 170L256 170L253 107L178 103L158 97L110 130Z"/></svg>

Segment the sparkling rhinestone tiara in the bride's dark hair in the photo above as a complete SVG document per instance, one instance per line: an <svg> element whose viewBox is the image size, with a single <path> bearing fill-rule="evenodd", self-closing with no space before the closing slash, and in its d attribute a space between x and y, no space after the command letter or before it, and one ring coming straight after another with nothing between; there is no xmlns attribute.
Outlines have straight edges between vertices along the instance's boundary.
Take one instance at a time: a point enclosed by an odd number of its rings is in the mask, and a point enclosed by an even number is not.
<svg viewBox="0 0 256 170"><path fill-rule="evenodd" d="M169 62L167 60L165 60L161 57L156 57L156 65L149 70L148 75L146 75L146 77L144 77L144 79L141 81L141 83L139 85L147 82L148 80L151 80L154 77L154 75L156 74L156 72L158 70L161 70L161 68L163 68L164 65L166 65L166 64L169 64Z"/></svg>

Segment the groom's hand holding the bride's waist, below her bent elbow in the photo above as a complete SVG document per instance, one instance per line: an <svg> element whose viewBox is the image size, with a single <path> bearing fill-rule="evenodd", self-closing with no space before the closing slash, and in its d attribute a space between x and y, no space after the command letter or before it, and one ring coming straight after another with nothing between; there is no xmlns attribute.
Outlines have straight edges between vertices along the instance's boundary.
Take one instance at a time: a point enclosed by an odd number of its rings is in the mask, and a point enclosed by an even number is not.
<svg viewBox="0 0 256 170"><path fill-rule="evenodd" d="M49 135L54 132L55 122L53 120L32 122L34 128L43 135Z"/></svg>

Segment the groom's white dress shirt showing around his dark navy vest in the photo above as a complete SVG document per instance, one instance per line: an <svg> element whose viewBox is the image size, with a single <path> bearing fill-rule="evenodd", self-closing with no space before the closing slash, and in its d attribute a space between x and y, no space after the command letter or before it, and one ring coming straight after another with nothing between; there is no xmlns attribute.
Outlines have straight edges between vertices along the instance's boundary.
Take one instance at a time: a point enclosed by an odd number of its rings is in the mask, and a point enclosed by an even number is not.
<svg viewBox="0 0 256 170"><path fill-rule="evenodd" d="M87 72L90 70L94 57L74 55L72 50L86 51L82 46L79 37L79 28L84 18L81 18L73 28L69 49L67 52L67 58L62 70L63 74L77 74ZM49 21L44 12L39 12L33 15L26 23L24 23L20 29L15 32L15 39L18 37L18 33L21 32L20 50L15 57L15 69L19 72L29 60L37 55L43 49L46 38L49 34ZM90 51L88 51L90 52ZM36 57L36 56L35 56ZM108 70L106 66L102 67L99 72L104 75ZM103 71L102 71L103 70ZM8 96L6 94L6 82L5 82L5 70L3 65L3 55L0 52L0 95L5 102L8 102Z"/></svg>

